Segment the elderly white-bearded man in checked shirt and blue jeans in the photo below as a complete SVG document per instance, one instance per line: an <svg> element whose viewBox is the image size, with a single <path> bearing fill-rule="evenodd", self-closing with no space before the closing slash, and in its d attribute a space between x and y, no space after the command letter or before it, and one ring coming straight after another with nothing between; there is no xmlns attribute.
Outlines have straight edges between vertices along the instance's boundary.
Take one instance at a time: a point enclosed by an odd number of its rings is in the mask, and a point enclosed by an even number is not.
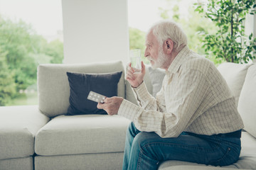
<svg viewBox="0 0 256 170"><path fill-rule="evenodd" d="M142 72L127 70L139 106L119 97L98 108L122 115L127 130L123 169L158 169L166 160L225 166L240 155L242 119L228 85L214 64L188 49L183 30L161 21L146 35L145 57L166 70L156 98L146 89Z"/></svg>

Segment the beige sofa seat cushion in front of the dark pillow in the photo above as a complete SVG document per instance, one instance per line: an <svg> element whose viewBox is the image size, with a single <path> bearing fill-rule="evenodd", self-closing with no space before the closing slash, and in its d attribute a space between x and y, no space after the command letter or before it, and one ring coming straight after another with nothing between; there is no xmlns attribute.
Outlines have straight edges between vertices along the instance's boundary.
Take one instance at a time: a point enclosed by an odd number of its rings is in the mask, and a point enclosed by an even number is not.
<svg viewBox="0 0 256 170"><path fill-rule="evenodd" d="M129 120L119 115L60 115L36 135L43 156L123 152Z"/></svg>

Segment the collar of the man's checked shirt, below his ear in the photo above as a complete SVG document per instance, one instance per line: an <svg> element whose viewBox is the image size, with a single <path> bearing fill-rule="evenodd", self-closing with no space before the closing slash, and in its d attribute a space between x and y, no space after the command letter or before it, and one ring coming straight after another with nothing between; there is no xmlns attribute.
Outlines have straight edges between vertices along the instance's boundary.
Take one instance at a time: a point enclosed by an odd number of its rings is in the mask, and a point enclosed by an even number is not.
<svg viewBox="0 0 256 170"><path fill-rule="evenodd" d="M188 52L190 52L188 46L186 45L183 47L183 49L178 52L178 55L174 58L174 61L171 62L170 67L168 68L168 71L166 74L171 73L174 74L178 72L179 67L181 67L181 64L183 63L184 60L188 57Z"/></svg>

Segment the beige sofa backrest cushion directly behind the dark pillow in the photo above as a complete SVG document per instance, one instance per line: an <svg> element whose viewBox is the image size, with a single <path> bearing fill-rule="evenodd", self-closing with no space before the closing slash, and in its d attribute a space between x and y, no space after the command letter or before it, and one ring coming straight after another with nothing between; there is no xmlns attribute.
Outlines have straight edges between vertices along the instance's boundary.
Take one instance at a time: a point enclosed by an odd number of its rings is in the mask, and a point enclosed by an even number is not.
<svg viewBox="0 0 256 170"><path fill-rule="evenodd" d="M50 118L66 114L70 106L67 72L87 74L122 72L117 95L124 98L124 67L120 61L90 64L41 64L38 66L38 107Z"/></svg>

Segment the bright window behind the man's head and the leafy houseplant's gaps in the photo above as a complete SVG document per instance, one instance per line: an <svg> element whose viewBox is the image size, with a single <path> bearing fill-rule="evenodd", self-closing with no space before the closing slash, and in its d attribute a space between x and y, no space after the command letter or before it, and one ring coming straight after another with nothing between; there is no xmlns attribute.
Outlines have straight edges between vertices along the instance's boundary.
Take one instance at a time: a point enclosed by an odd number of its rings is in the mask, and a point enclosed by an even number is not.
<svg viewBox="0 0 256 170"><path fill-rule="evenodd" d="M208 57L209 60L215 63L216 66L222 62L230 61L229 59L232 59L232 55L230 55L230 52L228 50L224 50L227 53L223 53L224 55L220 55L218 53L218 50L220 49L220 46L218 42L214 45L214 39L219 40L219 42L223 42L225 44L233 44L233 42L228 42L228 37L223 37L223 41L220 40L220 36L216 36L216 38L213 38L214 36L211 35L223 35L223 33L218 33L218 30L223 30L221 26L223 26L222 20L219 25L217 26L216 23L213 23L213 21L210 20L210 16L206 18L206 15L203 15L203 13L198 13L198 11L195 11L196 6L194 6L195 3L198 3L203 6L203 8L207 11L210 10L208 8L208 4L210 1L208 0L128 0L128 20L129 20L129 47L130 49L139 48L142 50L142 56L144 55L144 36L146 35L146 30L149 29L151 24L155 23L156 21L159 21L161 19L171 19L173 21L176 21L181 25L184 32L188 36L188 47L193 50L194 52L197 52L200 55L204 55ZM231 2L231 1L230 1ZM232 4L238 4L238 1L232 1ZM241 3L239 3L241 5ZM218 6L215 4L215 6ZM237 6L237 5L236 5ZM245 6L244 6L245 7ZM243 7L243 8L244 8ZM233 6L235 7L235 5ZM240 7L242 8L242 7ZM247 7L248 8L248 7ZM204 11L205 12L205 11ZM208 11L209 12L209 11ZM220 16L226 16L226 14L221 13ZM234 14L235 16L239 16L238 14ZM214 16L214 14L213 14ZM242 21L242 17L240 16L240 19L237 21ZM213 17L214 18L214 17ZM254 38L255 38L255 29L253 29L255 25L255 15L247 15L245 23L245 34L250 35L250 33L254 32ZM225 20L227 21L227 20ZM231 22L230 22L231 23ZM228 24L227 24L228 25ZM230 25L228 25L230 26ZM232 26L230 26L232 27ZM225 28L228 28L225 26ZM228 28L230 30L230 28ZM225 33L229 33L229 31L226 31ZM242 30L241 30L242 33ZM209 35L209 36L208 36ZM208 36L208 37L206 37ZM245 36L245 38L247 38ZM212 37L213 40L211 43L209 37ZM238 35L239 37L239 35ZM230 39L230 38L229 38ZM248 44L244 44L241 42L241 39L237 39L237 41L240 41L240 45L243 46L243 50L241 52L236 53L236 57L241 62L241 56L245 55L246 49L248 49ZM203 45L205 45L203 47ZM236 45L238 47L238 45ZM211 48L213 47L213 48ZM207 50L207 49L208 50ZM230 47L226 45L225 49L229 49ZM216 49L216 50L215 50ZM237 48L239 51L239 49ZM220 52L221 53L221 52ZM252 52L251 52L252 54ZM230 55L230 56L229 56ZM254 53L255 55L255 53ZM228 56L228 58L225 58L225 56ZM247 55L245 55L247 56ZM142 57L142 60L145 63L148 63L148 61ZM233 60L231 60L233 61ZM255 61L255 60L254 60ZM238 60L236 60L238 62ZM251 62L251 61L250 61Z"/></svg>

